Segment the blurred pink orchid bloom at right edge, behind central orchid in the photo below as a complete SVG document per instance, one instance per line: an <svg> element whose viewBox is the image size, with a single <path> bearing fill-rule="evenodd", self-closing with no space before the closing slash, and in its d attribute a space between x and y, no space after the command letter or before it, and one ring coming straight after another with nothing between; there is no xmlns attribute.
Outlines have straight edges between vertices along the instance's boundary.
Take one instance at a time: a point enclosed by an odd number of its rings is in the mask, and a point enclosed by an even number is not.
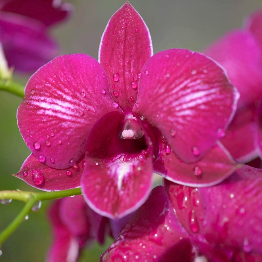
<svg viewBox="0 0 262 262"><path fill-rule="evenodd" d="M240 93L236 115L221 143L240 162L262 159L262 9L205 53L225 68Z"/></svg>

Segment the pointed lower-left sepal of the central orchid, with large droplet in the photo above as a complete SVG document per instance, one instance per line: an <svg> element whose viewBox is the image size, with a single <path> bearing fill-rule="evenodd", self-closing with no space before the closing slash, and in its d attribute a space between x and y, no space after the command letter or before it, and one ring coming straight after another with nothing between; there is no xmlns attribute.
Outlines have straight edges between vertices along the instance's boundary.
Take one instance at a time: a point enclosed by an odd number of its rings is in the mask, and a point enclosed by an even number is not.
<svg viewBox="0 0 262 262"><path fill-rule="evenodd" d="M81 159L74 166L59 170L40 163L37 157L31 154L14 176L41 190L65 190L80 187L84 165L85 161Z"/></svg>

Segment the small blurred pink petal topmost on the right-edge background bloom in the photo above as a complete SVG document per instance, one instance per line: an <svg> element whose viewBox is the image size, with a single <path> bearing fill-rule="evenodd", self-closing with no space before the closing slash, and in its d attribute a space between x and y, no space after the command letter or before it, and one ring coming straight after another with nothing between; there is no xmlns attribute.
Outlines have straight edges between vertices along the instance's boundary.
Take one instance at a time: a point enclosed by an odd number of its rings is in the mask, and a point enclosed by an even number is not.
<svg viewBox="0 0 262 262"><path fill-rule="evenodd" d="M255 11L246 19L245 27L255 36L262 51L262 9Z"/></svg>

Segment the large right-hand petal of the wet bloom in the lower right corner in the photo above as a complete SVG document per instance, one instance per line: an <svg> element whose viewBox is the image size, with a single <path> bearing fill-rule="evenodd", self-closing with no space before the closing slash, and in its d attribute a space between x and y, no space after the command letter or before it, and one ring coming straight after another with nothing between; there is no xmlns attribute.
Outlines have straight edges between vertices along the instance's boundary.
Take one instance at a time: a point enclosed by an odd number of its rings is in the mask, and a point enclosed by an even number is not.
<svg viewBox="0 0 262 262"><path fill-rule="evenodd" d="M261 252L261 169L244 166L221 184L198 192L206 209L204 230L210 244Z"/></svg>

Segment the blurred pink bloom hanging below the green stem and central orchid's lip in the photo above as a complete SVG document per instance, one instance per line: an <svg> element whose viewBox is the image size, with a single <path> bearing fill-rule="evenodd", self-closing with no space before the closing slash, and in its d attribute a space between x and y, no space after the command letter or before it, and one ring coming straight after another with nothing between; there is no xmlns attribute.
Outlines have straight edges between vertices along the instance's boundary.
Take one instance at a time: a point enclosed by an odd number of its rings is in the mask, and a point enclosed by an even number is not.
<svg viewBox="0 0 262 262"><path fill-rule="evenodd" d="M103 244L107 234L115 239L131 216L109 220L88 207L82 196L56 200L49 210L53 227L53 243L47 255L48 262L77 261L81 250L92 241Z"/></svg>

